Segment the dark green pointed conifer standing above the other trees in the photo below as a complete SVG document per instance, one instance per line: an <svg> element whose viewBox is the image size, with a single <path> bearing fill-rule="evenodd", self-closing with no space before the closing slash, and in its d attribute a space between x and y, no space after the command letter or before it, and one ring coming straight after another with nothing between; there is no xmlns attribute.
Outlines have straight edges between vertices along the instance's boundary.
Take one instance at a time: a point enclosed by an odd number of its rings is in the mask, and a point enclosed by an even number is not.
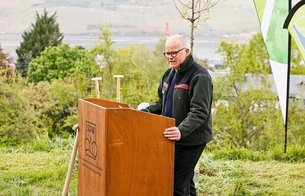
<svg viewBox="0 0 305 196"><path fill-rule="evenodd" d="M28 63L39 56L45 47L62 44L64 36L56 23L56 12L50 17L46 9L41 16L36 12L36 23L32 23L31 30L23 32L22 38L20 47L16 49L18 55L16 68L23 77L26 77Z"/></svg>

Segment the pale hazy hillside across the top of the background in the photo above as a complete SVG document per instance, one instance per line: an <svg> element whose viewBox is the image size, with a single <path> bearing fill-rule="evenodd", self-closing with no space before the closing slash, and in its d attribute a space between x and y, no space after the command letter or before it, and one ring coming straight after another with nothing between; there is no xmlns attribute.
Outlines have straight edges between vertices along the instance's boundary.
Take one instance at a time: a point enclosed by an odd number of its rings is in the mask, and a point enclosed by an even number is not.
<svg viewBox="0 0 305 196"><path fill-rule="evenodd" d="M189 34L189 21L179 17L171 0L14 0L0 2L0 32L21 34L35 22L36 11L57 11L57 22L64 34L97 34L99 26L111 24L117 36L164 34L165 23L173 33ZM214 37L239 34L259 28L252 1L227 0L216 5L196 34ZM241 17L242 16L242 17Z"/></svg>

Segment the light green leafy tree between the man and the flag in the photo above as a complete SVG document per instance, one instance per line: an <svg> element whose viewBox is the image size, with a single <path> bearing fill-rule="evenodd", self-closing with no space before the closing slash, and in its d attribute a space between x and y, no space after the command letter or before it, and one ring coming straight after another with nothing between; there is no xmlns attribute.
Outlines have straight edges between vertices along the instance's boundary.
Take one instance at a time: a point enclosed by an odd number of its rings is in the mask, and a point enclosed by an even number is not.
<svg viewBox="0 0 305 196"><path fill-rule="evenodd" d="M219 112L214 130L218 138L235 146L263 149L282 139L284 126L266 77L268 67L262 60L266 53L259 50L257 38L248 44L222 41L218 46L229 72L215 81L214 103Z"/></svg>

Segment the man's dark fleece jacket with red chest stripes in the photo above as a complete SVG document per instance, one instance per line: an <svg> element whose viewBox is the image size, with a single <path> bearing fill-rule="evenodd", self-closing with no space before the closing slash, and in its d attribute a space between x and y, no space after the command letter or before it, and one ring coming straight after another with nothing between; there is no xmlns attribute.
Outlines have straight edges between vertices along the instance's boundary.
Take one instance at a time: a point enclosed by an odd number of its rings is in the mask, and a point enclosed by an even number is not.
<svg viewBox="0 0 305 196"><path fill-rule="evenodd" d="M158 88L159 100L146 108L150 113L164 114L167 87L174 74L172 68L164 73ZM195 146L212 140L212 92L209 73L190 53L180 64L173 92L172 118L182 137L176 141L176 146Z"/></svg>

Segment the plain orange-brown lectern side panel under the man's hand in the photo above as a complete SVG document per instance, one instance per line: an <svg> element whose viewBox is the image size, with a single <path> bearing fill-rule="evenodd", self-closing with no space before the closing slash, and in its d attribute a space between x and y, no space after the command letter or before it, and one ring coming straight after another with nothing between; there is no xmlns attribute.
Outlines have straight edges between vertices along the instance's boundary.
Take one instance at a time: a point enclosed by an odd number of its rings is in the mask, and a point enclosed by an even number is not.
<svg viewBox="0 0 305 196"><path fill-rule="evenodd" d="M173 195L174 142L163 136L172 118L107 109L107 195Z"/></svg>

